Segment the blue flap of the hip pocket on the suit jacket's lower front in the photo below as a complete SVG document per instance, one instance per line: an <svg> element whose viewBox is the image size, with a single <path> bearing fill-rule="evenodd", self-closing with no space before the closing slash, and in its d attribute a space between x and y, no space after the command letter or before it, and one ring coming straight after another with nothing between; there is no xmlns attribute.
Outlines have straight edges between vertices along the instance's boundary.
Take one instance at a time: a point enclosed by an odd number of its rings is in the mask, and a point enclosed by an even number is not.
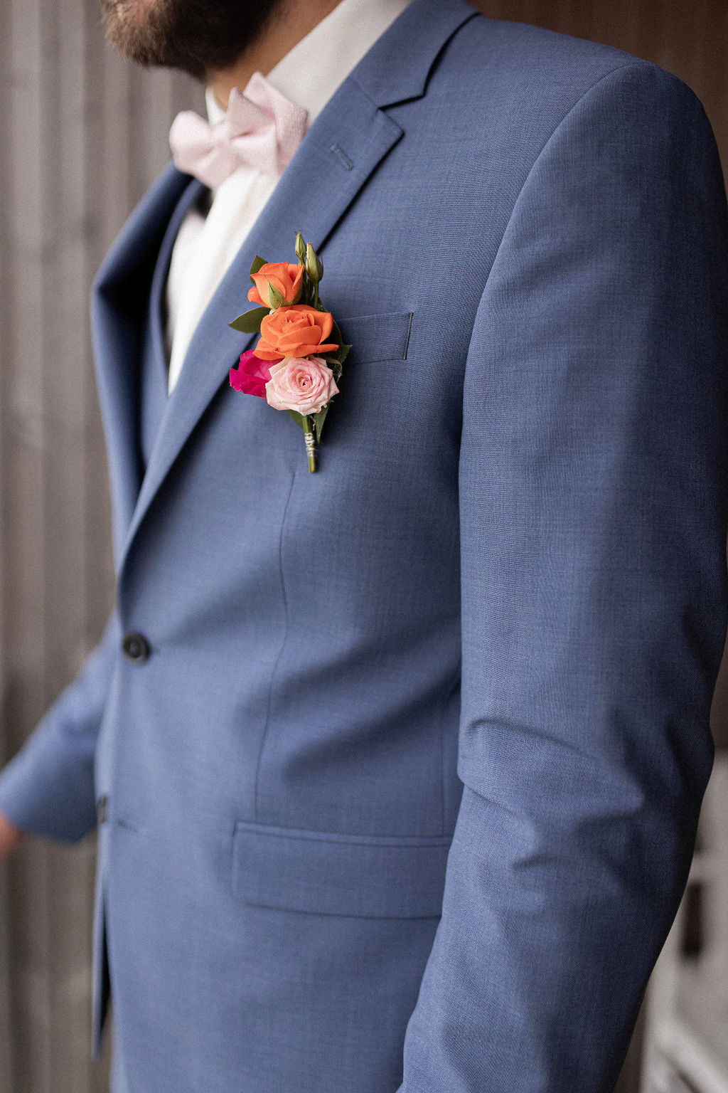
<svg viewBox="0 0 728 1093"><path fill-rule="evenodd" d="M449 848L450 838L370 838L239 822L232 888L258 907L363 918L438 917Z"/></svg>

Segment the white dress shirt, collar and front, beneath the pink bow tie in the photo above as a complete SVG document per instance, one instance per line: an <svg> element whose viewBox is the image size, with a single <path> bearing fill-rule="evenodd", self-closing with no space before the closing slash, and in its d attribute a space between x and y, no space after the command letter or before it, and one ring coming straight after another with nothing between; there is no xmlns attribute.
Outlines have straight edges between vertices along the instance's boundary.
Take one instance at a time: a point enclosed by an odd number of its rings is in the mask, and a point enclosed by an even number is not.
<svg viewBox="0 0 728 1093"><path fill-rule="evenodd" d="M342 0L286 54L267 73L267 79L291 102L305 107L308 111L307 125L310 126L339 84L408 2ZM225 115L210 89L206 103L210 121L219 121ZM203 210L195 209L182 222L175 240L166 286L170 393L198 322L277 181L277 178L243 164L213 191L206 215ZM295 260L293 238L290 255L272 255L270 258L272 261Z"/></svg>

